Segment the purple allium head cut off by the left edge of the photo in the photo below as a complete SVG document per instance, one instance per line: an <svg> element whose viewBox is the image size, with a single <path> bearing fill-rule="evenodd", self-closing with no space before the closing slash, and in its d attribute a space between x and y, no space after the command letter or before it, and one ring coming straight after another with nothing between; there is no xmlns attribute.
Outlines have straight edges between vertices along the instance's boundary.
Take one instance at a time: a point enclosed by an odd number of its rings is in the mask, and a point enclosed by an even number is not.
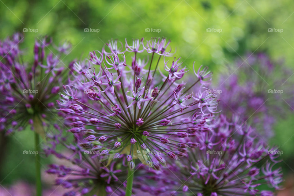
<svg viewBox="0 0 294 196"><path fill-rule="evenodd" d="M52 41L47 37L38 39L32 61L24 62L19 46L22 41L18 33L0 41L0 130L10 133L34 124L39 127L36 131L44 134L43 127L52 125L48 120L52 123L56 119L54 103L60 83L65 81L63 76L67 78L60 58L70 45L63 44L56 48L57 55L51 52L46 56L45 49Z"/></svg>

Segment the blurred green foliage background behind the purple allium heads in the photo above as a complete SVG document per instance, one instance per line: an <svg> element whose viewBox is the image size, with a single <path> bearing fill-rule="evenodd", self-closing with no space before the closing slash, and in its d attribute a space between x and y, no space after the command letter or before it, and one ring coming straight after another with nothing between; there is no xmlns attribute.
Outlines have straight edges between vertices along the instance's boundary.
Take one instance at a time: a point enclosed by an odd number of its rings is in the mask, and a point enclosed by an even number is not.
<svg viewBox="0 0 294 196"><path fill-rule="evenodd" d="M282 59L292 76L293 23L291 0L0 0L0 38L22 32L28 59L33 57L35 39L42 35L51 36L55 44L72 43L72 51L63 59L65 64L86 58L89 51L100 50L111 38L124 43L125 38L166 37L171 47L177 48L176 57L181 56L188 68L194 61L197 66L208 66L214 82L228 64L248 52ZM293 114L280 117L274 126L275 137L268 142L284 152L279 165L285 173L286 190L280 195L293 195L293 119ZM34 155L22 154L34 149L32 137L32 131L25 130L1 138L7 143L0 149L3 187L18 181L34 183ZM50 161L45 159L42 164ZM50 188L54 179L44 177L44 181Z"/></svg>

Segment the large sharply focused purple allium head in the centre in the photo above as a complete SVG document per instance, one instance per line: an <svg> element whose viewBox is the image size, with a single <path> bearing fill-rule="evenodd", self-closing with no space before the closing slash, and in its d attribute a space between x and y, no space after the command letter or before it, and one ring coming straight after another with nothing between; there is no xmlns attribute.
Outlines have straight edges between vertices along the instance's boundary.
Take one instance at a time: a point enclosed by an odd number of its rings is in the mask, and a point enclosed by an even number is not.
<svg viewBox="0 0 294 196"><path fill-rule="evenodd" d="M126 51L118 43L110 41L102 52L96 51L101 55L98 64L90 53L90 67L78 68L76 80L64 86L59 110L72 121L69 131L84 134L92 146L99 142L112 157L126 154L159 168L165 156L179 159L172 149L189 135L187 129L194 128L195 113L205 117L216 112L218 101L213 94L204 88L190 90L197 83L208 84L211 74L205 68L189 84L178 83L187 69L180 58L168 61L172 54L166 50L165 39L152 38L147 44L134 40L133 46L126 41ZM149 55L150 61L139 54ZM166 72L157 73L157 68Z"/></svg>

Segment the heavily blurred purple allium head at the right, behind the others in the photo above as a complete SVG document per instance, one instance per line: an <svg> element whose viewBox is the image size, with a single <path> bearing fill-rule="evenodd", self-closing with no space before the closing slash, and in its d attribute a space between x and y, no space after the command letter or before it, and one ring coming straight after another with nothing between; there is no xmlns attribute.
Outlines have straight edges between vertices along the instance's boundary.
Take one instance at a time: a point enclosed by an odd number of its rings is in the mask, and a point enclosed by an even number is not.
<svg viewBox="0 0 294 196"><path fill-rule="evenodd" d="M229 70L210 89L220 94L218 109L251 124L263 140L272 137L277 112L294 108L291 72L263 53L238 59Z"/></svg>

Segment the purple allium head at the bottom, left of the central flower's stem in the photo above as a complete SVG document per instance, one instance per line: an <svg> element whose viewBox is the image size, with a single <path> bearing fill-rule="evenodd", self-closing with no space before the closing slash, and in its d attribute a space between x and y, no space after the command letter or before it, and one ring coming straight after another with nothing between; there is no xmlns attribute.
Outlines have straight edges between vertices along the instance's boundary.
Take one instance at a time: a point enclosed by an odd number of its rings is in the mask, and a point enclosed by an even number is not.
<svg viewBox="0 0 294 196"><path fill-rule="evenodd" d="M50 164L47 173L56 176L55 185L64 189L63 196L125 195L129 157L110 158L106 150L101 150L102 146L92 146L82 134L75 134L74 141L71 141L61 132L48 136L44 153L53 155L62 163Z"/></svg>

